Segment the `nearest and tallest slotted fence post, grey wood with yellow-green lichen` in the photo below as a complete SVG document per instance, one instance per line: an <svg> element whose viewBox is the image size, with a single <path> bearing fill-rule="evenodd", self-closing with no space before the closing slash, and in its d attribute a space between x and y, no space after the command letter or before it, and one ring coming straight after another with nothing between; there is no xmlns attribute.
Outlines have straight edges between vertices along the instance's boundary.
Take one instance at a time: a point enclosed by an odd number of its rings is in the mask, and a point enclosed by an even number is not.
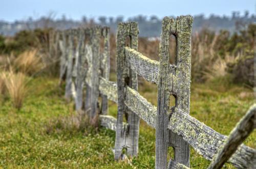
<svg viewBox="0 0 256 169"><path fill-rule="evenodd" d="M169 123L170 96L174 96L175 107L189 114L190 69L191 69L191 16L165 17L162 22L160 42L160 66L158 83L158 106L156 124L156 168L166 168L167 148L174 148L175 161L189 166L188 144L176 133L167 129ZM169 38L177 41L176 69L170 69ZM173 85L176 84L176 85ZM174 89L174 87L176 89Z"/></svg>

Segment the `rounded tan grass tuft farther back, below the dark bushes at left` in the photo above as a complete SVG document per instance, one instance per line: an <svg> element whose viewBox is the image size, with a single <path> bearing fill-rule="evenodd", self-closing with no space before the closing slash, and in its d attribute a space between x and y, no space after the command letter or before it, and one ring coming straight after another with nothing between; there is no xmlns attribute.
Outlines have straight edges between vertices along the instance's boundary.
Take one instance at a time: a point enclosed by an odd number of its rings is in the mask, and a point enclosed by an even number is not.
<svg viewBox="0 0 256 169"><path fill-rule="evenodd" d="M41 58L37 55L37 50L28 50L19 54L14 60L13 66L19 71L32 75L43 68Z"/></svg>

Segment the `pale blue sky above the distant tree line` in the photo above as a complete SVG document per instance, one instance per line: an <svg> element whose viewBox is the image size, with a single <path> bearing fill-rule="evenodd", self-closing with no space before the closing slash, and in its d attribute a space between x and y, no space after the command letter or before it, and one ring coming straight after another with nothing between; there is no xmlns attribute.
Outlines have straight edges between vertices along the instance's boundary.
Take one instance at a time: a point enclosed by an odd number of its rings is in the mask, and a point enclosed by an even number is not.
<svg viewBox="0 0 256 169"><path fill-rule="evenodd" d="M60 18L80 20L82 16L124 16L125 18L139 14L158 17L178 15L209 16L227 15L232 11L245 10L255 14L255 0L0 0L0 20L15 21L34 19L53 14Z"/></svg>

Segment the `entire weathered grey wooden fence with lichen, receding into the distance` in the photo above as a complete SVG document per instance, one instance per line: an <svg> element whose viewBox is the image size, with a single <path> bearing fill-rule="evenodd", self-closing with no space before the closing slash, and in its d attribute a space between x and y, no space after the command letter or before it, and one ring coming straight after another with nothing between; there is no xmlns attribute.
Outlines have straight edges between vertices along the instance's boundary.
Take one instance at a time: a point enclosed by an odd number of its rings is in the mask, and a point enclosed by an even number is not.
<svg viewBox="0 0 256 169"><path fill-rule="evenodd" d="M208 168L221 168L226 161L237 168L253 168L256 151L242 142L255 127L255 105L230 137L189 116L192 20L191 16L163 19L159 62L137 51L139 30L136 22L119 23L117 82L109 81L108 27L60 32L60 80L66 77L65 97L67 100L73 98L76 110L89 115L92 124L99 117L101 126L116 131L115 160L124 158L123 150L127 155L138 155L142 119L156 129L156 168L188 168L189 145L211 160ZM177 41L176 56L169 55L171 35ZM175 65L169 64L170 57L175 57ZM138 93L137 74L158 86L157 107ZM102 98L100 110L99 96ZM174 96L175 106L169 105L170 96ZM118 105L117 119L106 115L108 99ZM123 122L124 115L127 123ZM174 159L169 162L168 147L174 148Z"/></svg>

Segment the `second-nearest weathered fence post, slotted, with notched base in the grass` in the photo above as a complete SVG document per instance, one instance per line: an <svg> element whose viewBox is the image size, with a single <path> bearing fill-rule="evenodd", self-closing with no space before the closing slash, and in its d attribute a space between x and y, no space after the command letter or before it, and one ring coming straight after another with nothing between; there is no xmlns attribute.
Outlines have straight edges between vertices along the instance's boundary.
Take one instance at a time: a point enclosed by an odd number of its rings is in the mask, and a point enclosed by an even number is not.
<svg viewBox="0 0 256 169"><path fill-rule="evenodd" d="M136 156L138 153L139 117L128 110L124 105L125 86L138 90L137 74L129 69L129 62L125 60L125 40L130 37L131 48L138 49L138 24L136 22L119 23L117 30L117 88L118 88L118 114L116 124L115 160L122 157L122 150L127 154ZM129 129L123 130L123 115L127 115Z"/></svg>

